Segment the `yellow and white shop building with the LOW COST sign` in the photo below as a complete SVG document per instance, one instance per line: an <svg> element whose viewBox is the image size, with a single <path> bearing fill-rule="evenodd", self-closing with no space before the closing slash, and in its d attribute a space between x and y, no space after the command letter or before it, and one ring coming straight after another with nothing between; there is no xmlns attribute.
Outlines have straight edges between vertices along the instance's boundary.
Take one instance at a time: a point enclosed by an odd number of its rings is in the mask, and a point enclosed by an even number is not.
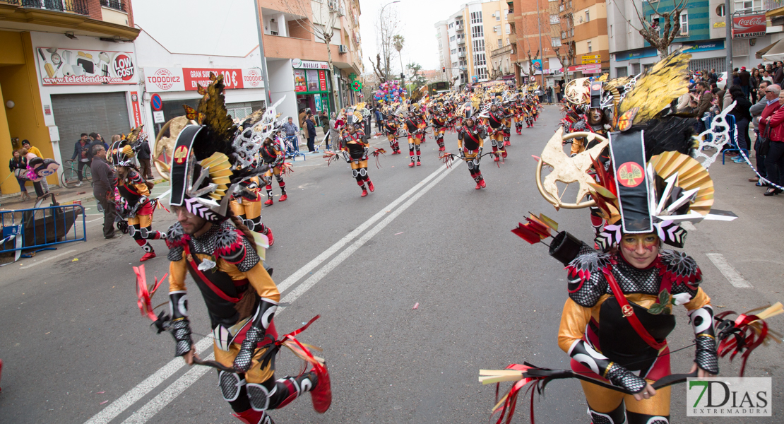
<svg viewBox="0 0 784 424"><path fill-rule="evenodd" d="M0 161L26 139L64 164L82 132L110 139L140 123L129 0L7 0L0 16ZM8 176L0 168L2 193L18 193Z"/></svg>

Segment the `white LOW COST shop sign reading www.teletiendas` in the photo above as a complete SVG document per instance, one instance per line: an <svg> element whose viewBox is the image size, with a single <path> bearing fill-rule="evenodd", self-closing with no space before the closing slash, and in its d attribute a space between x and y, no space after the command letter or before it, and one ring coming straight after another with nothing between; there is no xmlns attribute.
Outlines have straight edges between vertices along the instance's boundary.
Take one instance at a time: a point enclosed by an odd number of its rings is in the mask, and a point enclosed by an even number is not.
<svg viewBox="0 0 784 424"><path fill-rule="evenodd" d="M136 84L131 52L37 47L43 85Z"/></svg>

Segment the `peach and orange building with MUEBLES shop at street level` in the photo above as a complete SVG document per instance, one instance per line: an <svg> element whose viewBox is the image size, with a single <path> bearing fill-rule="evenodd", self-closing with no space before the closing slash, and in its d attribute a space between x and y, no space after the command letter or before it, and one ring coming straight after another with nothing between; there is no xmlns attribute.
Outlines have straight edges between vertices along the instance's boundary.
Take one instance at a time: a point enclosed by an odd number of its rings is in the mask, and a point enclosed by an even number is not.
<svg viewBox="0 0 784 424"><path fill-rule="evenodd" d="M359 101L350 89L364 71L359 0L265 0L259 13L270 101L285 96L279 112L338 111ZM330 26L328 53L319 34Z"/></svg>

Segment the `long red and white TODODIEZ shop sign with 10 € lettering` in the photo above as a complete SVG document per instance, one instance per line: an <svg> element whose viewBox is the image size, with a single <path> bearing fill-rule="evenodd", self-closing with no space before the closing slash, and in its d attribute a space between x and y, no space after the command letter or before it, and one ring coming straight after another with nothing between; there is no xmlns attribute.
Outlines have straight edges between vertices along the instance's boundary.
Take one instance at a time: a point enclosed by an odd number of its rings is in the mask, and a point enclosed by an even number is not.
<svg viewBox="0 0 784 424"><path fill-rule="evenodd" d="M259 68L145 67L144 85L148 92L196 91L209 85L209 74L223 75L226 89L260 89L264 80Z"/></svg>

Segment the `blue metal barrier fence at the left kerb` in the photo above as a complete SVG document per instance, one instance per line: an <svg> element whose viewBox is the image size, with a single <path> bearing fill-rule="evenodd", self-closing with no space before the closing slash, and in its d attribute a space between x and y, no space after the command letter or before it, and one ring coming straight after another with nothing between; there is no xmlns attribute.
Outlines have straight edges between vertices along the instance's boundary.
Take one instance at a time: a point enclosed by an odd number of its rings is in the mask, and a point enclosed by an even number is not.
<svg viewBox="0 0 784 424"><path fill-rule="evenodd" d="M80 215L81 225L78 222ZM0 211L0 228L0 253L45 249L87 240L85 208L82 205ZM21 237L21 243L18 237Z"/></svg>

